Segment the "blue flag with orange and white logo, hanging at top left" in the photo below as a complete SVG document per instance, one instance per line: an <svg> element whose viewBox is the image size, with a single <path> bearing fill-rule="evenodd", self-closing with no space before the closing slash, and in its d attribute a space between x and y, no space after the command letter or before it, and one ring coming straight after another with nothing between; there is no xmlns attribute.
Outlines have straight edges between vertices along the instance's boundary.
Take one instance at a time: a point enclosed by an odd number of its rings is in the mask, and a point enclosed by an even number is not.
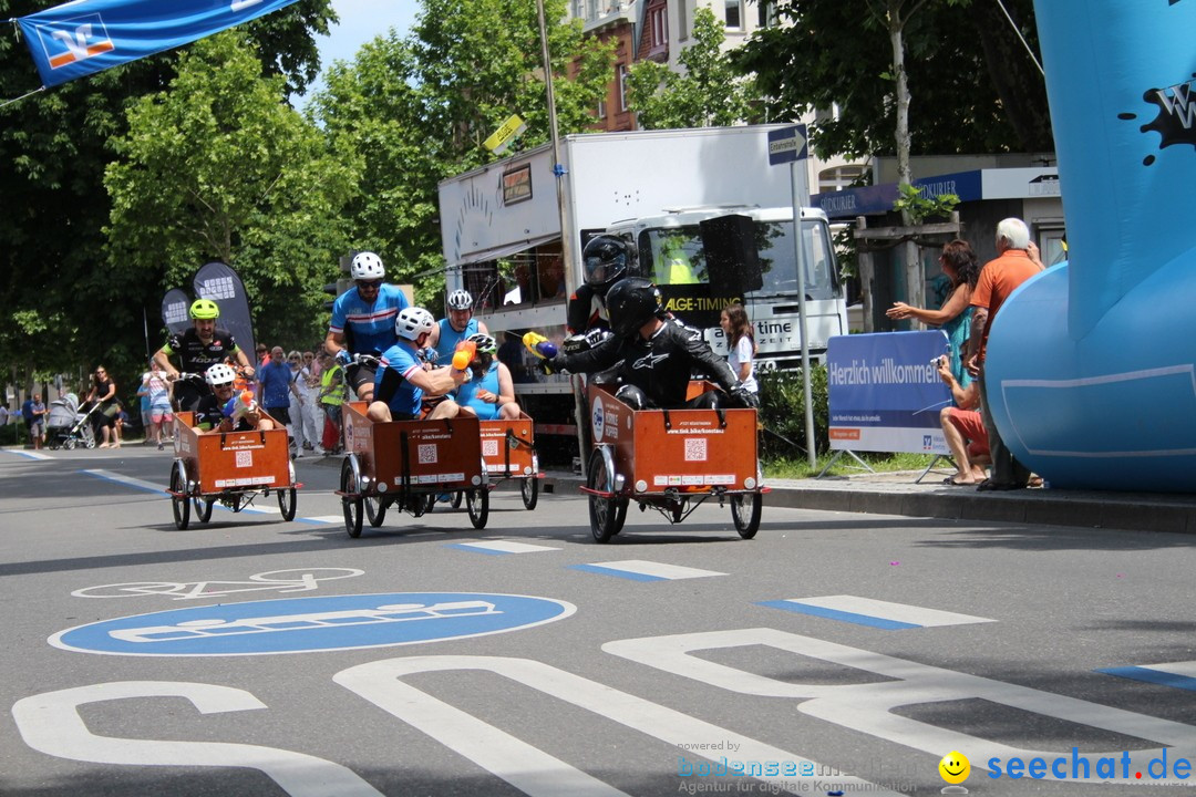
<svg viewBox="0 0 1196 797"><path fill-rule="evenodd" d="M45 86L181 47L295 0L74 0L20 17Z"/></svg>

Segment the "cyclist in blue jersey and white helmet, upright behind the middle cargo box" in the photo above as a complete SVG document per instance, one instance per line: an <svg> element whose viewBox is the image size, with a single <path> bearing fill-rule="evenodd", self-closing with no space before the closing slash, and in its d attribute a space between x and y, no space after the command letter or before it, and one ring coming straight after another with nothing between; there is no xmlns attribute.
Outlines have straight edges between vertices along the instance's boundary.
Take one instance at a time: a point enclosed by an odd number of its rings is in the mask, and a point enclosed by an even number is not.
<svg viewBox="0 0 1196 797"><path fill-rule="evenodd" d="M395 319L408 306L397 286L386 284L386 269L373 252L360 252L349 269L355 287L337 296L328 325L324 349L344 366L353 391L362 401L373 400L373 364L353 362L352 355L374 357L395 345Z"/></svg>

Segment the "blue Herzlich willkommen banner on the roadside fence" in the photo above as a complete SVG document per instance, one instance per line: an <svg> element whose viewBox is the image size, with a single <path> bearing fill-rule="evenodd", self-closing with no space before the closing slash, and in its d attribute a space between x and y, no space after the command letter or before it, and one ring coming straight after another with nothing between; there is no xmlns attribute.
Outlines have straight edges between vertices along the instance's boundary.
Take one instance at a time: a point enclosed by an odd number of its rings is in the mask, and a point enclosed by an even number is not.
<svg viewBox="0 0 1196 797"><path fill-rule="evenodd" d="M830 338L830 447L950 454L939 410L951 404L951 391L930 362L946 351L940 330Z"/></svg>

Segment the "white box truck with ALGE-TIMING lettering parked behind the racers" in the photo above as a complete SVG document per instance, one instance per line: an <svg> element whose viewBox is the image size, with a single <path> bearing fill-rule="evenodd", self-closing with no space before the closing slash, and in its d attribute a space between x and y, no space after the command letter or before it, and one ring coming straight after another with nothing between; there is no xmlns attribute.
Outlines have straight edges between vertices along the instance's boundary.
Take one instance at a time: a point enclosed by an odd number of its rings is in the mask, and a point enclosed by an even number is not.
<svg viewBox="0 0 1196 797"><path fill-rule="evenodd" d="M569 135L560 177L545 145L440 183L447 290L474 295L538 435L574 434L573 393L567 378L536 369L520 336L563 339L565 270L581 284L581 250L603 232L634 243L634 272L660 287L673 314L704 327L716 351L726 351L719 313L740 301L759 366L800 364L789 168L768 161L768 133L781 127ZM557 184L572 231L567 264ZM801 229L805 335L819 357L831 336L847 333L847 305L826 216L804 208Z"/></svg>

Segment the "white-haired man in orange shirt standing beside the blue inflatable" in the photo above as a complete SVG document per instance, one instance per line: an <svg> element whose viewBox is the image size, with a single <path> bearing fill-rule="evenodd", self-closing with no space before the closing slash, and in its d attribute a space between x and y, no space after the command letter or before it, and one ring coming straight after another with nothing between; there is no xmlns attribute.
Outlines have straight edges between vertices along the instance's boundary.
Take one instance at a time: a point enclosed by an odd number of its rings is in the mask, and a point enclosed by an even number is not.
<svg viewBox="0 0 1196 797"><path fill-rule="evenodd" d="M996 258L981 269L980 281L972 292L972 333L968 342L968 370L980 379L981 413L988 430L988 448L993 458L993 473L976 489L1020 490L1030 480L1030 470L1013 458L1013 453L1001 440L989 411L989 385L984 378L984 354L988 331L996 312L1018 286L1035 276L1042 266L1030 257L1030 229L1020 219L1005 219L996 226Z"/></svg>

